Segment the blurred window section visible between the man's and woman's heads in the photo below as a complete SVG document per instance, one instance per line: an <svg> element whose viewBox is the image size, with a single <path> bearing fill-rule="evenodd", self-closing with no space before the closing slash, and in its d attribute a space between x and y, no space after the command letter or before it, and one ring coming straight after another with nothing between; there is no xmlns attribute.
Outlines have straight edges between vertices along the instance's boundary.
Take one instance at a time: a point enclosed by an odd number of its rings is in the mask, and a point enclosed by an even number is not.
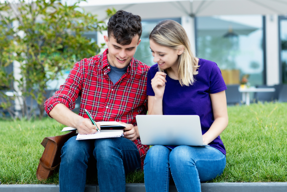
<svg viewBox="0 0 287 192"><path fill-rule="evenodd" d="M143 31L141 33L141 42L137 47L137 51L135 52L134 58L147 64L148 66L153 66L154 64L156 64L153 61L154 57L152 56L152 52L150 51L150 40L148 39L148 37L156 24L163 20L165 19L143 20L141 22L143 26ZM172 20L181 24L181 18L173 18Z"/></svg>

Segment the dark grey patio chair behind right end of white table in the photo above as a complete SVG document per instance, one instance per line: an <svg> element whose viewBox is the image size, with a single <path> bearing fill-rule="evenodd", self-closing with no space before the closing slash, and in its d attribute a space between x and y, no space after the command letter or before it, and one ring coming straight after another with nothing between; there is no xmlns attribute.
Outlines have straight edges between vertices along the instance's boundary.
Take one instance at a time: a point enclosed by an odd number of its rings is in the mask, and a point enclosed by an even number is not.
<svg viewBox="0 0 287 192"><path fill-rule="evenodd" d="M267 85L257 85L256 88L275 88L275 92L255 92L254 98L256 99L256 102L261 101L274 101L278 100L279 97L279 91L281 88L281 85L274 85L274 86L267 86Z"/></svg>

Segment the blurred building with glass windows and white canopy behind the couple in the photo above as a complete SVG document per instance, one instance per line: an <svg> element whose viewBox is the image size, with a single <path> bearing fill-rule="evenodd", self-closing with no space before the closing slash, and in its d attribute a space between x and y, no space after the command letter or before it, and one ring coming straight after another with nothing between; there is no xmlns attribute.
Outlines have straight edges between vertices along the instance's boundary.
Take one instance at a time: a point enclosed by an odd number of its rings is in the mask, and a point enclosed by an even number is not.
<svg viewBox="0 0 287 192"><path fill-rule="evenodd" d="M247 76L251 85L287 83L287 1L87 1L80 6L106 17L107 8L138 14L144 27L135 58L152 66L148 35L165 19L179 22L187 31L194 54L212 60L225 83L240 84ZM104 43L97 34L97 43Z"/></svg>

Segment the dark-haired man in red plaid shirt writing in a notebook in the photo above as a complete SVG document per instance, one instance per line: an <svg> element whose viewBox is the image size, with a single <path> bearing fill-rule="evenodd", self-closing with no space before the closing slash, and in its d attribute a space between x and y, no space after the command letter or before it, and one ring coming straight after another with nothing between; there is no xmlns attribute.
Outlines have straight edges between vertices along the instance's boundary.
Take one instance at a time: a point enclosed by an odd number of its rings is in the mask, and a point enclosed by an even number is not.
<svg viewBox="0 0 287 192"><path fill-rule="evenodd" d="M45 102L58 122L93 134L94 121L120 121L124 137L94 140L70 138L62 148L60 191L84 191L87 163L97 160L100 191L125 191L125 174L143 166L148 146L142 145L135 116L147 113L146 76L149 67L133 58L141 39L141 18L118 11L108 22L108 49L102 55L76 62L66 82ZM79 115L71 111L80 96ZM99 124L97 124L98 126ZM98 126L99 127L99 126Z"/></svg>

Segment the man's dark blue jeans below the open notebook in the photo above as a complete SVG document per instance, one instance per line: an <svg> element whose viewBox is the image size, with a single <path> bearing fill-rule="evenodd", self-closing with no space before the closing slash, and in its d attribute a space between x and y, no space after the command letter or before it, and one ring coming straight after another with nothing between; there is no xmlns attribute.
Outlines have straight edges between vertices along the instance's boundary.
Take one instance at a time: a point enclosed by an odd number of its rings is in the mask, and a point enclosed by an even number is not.
<svg viewBox="0 0 287 192"><path fill-rule="evenodd" d="M101 192L125 191L125 174L141 167L139 151L123 137L92 140L70 138L62 148L59 171L60 191L82 191L91 155L97 160Z"/></svg>

